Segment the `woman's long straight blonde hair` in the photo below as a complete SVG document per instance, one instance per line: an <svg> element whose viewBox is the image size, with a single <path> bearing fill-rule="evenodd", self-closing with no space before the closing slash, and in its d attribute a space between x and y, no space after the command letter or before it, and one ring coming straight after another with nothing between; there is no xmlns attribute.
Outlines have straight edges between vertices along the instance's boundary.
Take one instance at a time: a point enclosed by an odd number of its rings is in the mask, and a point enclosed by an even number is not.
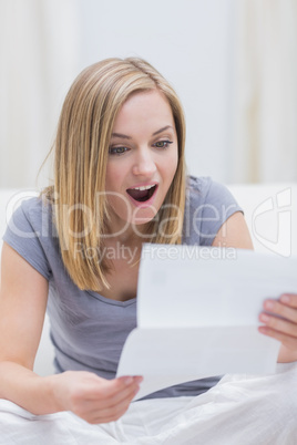
<svg viewBox="0 0 297 445"><path fill-rule="evenodd" d="M185 122L168 82L142 59L106 59L86 68L65 97L53 146L54 186L47 189L47 196L53 204L63 263L80 289L109 288L106 275L111 267L105 258L100 259L109 227L105 172L116 114L133 93L155 89L172 108L178 164L147 236L151 234L151 242L180 244L185 206ZM100 201L94 199L96 193L102 193ZM78 238L85 252L92 251L91 256L75 255Z"/></svg>

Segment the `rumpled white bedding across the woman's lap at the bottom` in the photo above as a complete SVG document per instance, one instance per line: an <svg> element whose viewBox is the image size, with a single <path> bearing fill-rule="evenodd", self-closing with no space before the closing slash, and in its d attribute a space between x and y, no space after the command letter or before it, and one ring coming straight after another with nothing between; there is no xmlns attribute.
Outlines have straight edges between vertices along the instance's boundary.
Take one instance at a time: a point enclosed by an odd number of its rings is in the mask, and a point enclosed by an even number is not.
<svg viewBox="0 0 297 445"><path fill-rule="evenodd" d="M0 444L296 445L297 363L269 376L226 375L196 397L134 402L104 425L69 412L35 416L0 400Z"/></svg>

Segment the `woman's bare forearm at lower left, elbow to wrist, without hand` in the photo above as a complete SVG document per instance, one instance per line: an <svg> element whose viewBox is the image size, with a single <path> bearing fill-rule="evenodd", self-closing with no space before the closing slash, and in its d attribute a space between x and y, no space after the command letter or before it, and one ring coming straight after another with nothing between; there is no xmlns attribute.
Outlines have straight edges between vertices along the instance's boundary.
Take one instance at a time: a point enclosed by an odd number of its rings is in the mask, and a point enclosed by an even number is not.
<svg viewBox="0 0 297 445"><path fill-rule="evenodd" d="M14 402L32 414L57 413L61 411L54 397L57 377L41 377L18 363L0 362L0 399Z"/></svg>

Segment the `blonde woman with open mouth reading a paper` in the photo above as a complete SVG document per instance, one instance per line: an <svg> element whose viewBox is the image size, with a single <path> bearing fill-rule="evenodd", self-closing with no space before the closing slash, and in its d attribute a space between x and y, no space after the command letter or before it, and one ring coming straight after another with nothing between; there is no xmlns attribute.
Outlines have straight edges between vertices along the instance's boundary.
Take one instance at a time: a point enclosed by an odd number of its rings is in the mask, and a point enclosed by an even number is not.
<svg viewBox="0 0 297 445"><path fill-rule="evenodd" d="M0 399L37 415L119 420L142 380L114 379L136 323L142 244L253 248L227 189L186 179L184 142L180 101L145 61L109 59L74 81L54 144L54 185L22 204L3 238ZM57 374L40 377L32 369L47 304ZM285 318L260 315L260 331L283 343L279 361L297 360L297 296L264 309ZM193 396L217 381L151 397Z"/></svg>

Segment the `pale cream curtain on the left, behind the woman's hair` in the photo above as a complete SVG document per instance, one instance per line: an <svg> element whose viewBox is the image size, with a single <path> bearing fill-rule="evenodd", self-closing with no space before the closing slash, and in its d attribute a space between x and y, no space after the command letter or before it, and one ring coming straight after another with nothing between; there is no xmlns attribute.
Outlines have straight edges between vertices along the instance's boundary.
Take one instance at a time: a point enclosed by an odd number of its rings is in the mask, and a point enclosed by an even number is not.
<svg viewBox="0 0 297 445"><path fill-rule="evenodd" d="M78 0L0 0L0 187L37 185L79 71L79 23Z"/></svg>

